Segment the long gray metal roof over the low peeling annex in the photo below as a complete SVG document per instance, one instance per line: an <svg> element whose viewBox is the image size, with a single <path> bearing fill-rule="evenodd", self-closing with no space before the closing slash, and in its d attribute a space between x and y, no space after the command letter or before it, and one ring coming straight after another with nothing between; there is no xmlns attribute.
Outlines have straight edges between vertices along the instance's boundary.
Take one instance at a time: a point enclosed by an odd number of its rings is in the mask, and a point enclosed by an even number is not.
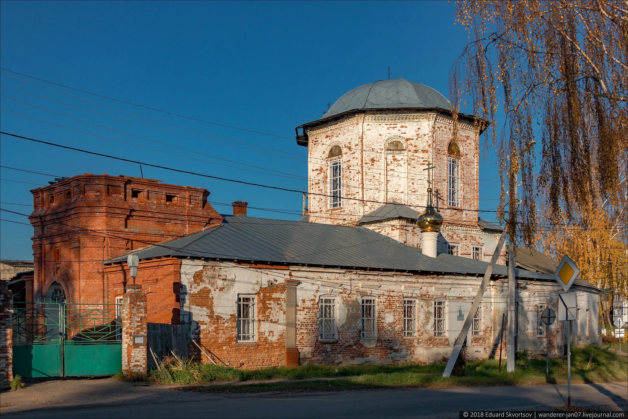
<svg viewBox="0 0 628 419"><path fill-rule="evenodd" d="M484 275L488 263L440 254L430 258L420 249L365 227L334 226L298 220L227 216L223 224L190 236L134 252L139 259L174 256L273 264L304 264L347 269ZM126 261L126 256L105 264ZM497 265L494 275L507 275ZM521 278L551 280L551 276L516 269Z"/></svg>

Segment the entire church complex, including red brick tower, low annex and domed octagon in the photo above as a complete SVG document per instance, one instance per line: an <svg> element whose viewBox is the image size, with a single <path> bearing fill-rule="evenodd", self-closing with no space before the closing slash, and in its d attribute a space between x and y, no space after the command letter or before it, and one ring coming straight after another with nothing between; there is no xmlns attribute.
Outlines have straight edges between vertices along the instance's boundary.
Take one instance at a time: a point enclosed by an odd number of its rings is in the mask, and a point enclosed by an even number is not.
<svg viewBox="0 0 628 419"><path fill-rule="evenodd" d="M502 229L479 217L479 125L460 114L454 140L452 122L443 95L405 79L342 95L296 129L308 148L300 220L249 217L240 201L218 214L207 190L156 180L80 175L37 188L28 292L114 303L133 281L149 322L186 325L191 353L234 367L440 361L468 316L468 355L492 357L506 249L470 313ZM562 354L565 329L540 317L560 287L551 263L532 259L516 266L517 346ZM572 289L571 335L597 342L600 290L580 278Z"/></svg>

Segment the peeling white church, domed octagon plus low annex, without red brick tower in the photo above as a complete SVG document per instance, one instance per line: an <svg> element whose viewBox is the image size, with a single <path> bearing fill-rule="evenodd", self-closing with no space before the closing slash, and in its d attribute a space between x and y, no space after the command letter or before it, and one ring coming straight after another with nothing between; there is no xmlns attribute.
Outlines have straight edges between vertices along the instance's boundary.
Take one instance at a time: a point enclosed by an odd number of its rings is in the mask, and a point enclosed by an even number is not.
<svg viewBox="0 0 628 419"><path fill-rule="evenodd" d="M405 79L350 90L297 127L308 148L303 219L249 217L236 202L219 226L136 251L138 281L171 278L155 273L161 261L179 266L181 323L230 366L440 361L468 316L470 357L495 356L504 250L469 310L502 231L478 215L480 130L461 114L453 141L451 112L439 92ZM558 263L534 252L517 249L517 347L562 354L565 325L540 317L556 308ZM597 342L600 290L582 279L572 290L571 335Z"/></svg>

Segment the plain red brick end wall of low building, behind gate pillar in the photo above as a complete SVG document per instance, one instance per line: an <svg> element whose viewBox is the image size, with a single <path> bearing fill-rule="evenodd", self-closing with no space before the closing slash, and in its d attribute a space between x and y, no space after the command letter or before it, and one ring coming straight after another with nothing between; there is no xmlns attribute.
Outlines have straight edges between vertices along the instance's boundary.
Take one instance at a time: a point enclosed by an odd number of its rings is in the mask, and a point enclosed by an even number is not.
<svg viewBox="0 0 628 419"><path fill-rule="evenodd" d="M127 263L104 267L109 285L109 300L124 294L133 283ZM141 286L148 300L148 321L151 323L179 324L181 259L161 258L140 261L135 283Z"/></svg>

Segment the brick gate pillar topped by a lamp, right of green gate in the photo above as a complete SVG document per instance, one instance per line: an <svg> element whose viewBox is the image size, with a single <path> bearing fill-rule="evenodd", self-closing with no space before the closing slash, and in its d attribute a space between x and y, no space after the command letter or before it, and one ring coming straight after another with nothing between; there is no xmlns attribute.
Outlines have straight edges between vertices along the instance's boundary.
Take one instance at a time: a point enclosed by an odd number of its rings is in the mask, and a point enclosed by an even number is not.
<svg viewBox="0 0 628 419"><path fill-rule="evenodd" d="M141 285L126 286L122 310L122 374L145 374L148 307Z"/></svg>

